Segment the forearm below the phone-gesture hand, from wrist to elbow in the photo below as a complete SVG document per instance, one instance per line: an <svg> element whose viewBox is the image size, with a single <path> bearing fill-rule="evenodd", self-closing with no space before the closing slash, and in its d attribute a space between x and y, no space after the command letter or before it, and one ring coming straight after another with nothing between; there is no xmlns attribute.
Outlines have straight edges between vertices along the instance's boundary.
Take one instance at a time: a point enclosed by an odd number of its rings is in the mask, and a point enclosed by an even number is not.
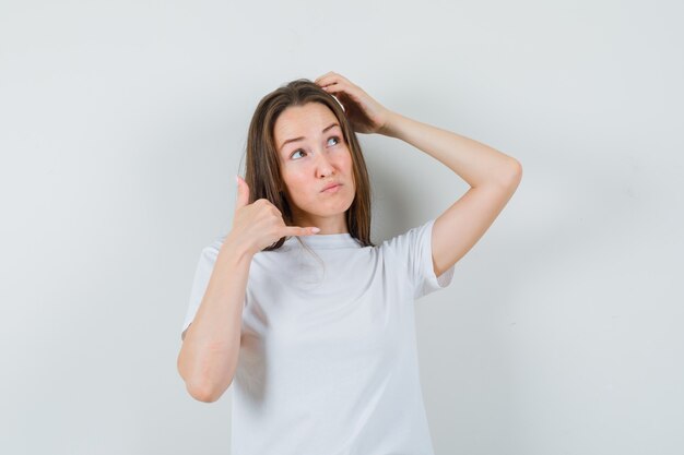
<svg viewBox="0 0 684 455"><path fill-rule="evenodd" d="M178 371L190 395L201 402L219 399L233 381L251 258L226 238L200 308L186 331Z"/></svg>

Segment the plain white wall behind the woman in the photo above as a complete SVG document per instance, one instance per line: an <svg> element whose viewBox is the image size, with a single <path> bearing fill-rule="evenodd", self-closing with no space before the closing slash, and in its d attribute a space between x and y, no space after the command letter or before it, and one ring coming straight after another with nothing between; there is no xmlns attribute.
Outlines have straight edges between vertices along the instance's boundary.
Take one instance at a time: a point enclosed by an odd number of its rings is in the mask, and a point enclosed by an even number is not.
<svg viewBox="0 0 684 455"><path fill-rule="evenodd" d="M258 100L335 71L517 158L517 193L416 303L437 454L684 452L676 1L0 3L0 452L227 454L176 370ZM361 135L373 240L468 189ZM239 454L234 454L239 455Z"/></svg>

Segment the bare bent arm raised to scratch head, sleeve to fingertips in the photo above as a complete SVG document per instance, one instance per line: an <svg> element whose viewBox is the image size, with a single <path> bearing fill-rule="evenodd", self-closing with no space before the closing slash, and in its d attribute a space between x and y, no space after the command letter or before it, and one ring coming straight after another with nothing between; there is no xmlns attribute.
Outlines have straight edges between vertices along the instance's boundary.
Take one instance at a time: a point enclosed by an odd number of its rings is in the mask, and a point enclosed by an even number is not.
<svg viewBox="0 0 684 455"><path fill-rule="evenodd" d="M354 131L408 142L471 185L433 225L433 266L440 276L492 226L518 188L522 166L487 145L390 111L338 73L326 73L316 83L340 100Z"/></svg>

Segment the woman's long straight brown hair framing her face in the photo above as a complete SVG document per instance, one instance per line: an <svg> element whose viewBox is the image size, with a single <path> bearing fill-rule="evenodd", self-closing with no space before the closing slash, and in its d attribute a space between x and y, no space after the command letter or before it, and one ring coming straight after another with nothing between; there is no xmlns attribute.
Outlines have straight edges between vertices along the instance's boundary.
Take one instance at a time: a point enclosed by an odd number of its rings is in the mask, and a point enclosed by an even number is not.
<svg viewBox="0 0 684 455"><path fill-rule="evenodd" d="M298 79L280 86L259 101L249 124L247 135L247 159L245 181L249 185L249 203L267 199L283 214L283 221L293 226L292 208L281 189L285 188L280 172L273 127L278 117L291 106L320 103L334 113L340 122L344 141L352 155L352 168L356 183L356 195L345 213L350 235L362 247L375 247L370 241L370 182L366 161L344 110L338 100L307 79ZM262 251L276 250L285 242L285 237Z"/></svg>

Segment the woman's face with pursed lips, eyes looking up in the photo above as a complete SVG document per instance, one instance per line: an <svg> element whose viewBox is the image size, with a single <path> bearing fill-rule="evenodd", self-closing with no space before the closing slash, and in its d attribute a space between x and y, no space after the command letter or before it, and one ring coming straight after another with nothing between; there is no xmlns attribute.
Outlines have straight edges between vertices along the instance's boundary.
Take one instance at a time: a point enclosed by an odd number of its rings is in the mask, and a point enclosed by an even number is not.
<svg viewBox="0 0 684 455"><path fill-rule="evenodd" d="M352 155L328 106L291 106L273 127L285 194L297 226L346 232L344 213L356 187ZM338 187L323 191L330 183ZM323 232L321 232L323 234Z"/></svg>

